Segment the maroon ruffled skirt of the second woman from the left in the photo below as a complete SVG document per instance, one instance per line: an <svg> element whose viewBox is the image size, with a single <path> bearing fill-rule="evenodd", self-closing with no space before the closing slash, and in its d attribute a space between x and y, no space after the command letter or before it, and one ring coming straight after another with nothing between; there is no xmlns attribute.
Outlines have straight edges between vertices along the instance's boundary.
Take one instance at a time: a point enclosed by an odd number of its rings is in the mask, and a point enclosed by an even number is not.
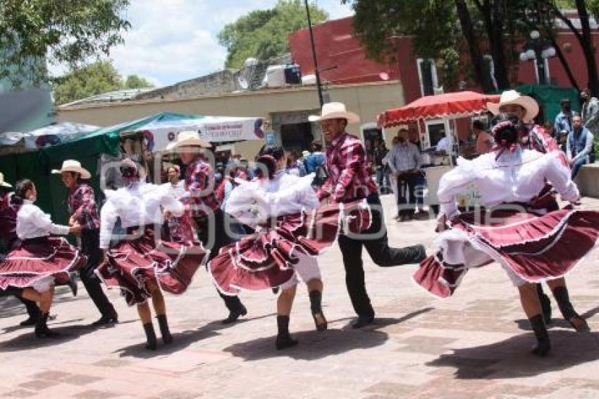
<svg viewBox="0 0 599 399"><path fill-rule="evenodd" d="M204 264L206 252L202 245L164 240L156 245L154 228L149 226L138 235L109 250L106 262L96 271L102 281L108 287L121 288L130 306L152 297L150 285L175 295L184 293L199 266Z"/></svg>

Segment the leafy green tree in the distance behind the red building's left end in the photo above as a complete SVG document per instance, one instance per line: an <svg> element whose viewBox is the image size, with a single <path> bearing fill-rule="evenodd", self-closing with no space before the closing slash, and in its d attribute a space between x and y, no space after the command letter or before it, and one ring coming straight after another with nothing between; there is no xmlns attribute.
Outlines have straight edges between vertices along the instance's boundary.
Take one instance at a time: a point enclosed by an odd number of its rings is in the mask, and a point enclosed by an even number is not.
<svg viewBox="0 0 599 399"><path fill-rule="evenodd" d="M311 4L313 23L328 18L326 11ZM227 49L226 68L242 68L249 57L260 61L276 59L289 51L288 35L307 27L302 0L279 0L274 8L257 10L225 25L218 33L218 42Z"/></svg>

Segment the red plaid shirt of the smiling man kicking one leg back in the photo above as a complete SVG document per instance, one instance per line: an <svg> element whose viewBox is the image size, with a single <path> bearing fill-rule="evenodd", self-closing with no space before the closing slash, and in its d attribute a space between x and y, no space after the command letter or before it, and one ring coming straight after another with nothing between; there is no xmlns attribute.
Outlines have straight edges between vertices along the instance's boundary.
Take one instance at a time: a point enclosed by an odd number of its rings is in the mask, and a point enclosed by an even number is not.
<svg viewBox="0 0 599 399"><path fill-rule="evenodd" d="M326 149L328 178L319 190L319 198L333 197L335 202L362 200L376 192L372 164L358 137L342 133Z"/></svg>

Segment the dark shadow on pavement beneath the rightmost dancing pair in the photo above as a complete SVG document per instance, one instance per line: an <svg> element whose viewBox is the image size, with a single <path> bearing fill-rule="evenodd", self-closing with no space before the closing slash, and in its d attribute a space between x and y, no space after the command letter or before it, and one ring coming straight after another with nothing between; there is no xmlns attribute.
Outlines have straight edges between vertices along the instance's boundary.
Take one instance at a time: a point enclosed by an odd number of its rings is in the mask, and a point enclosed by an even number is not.
<svg viewBox="0 0 599 399"><path fill-rule="evenodd" d="M456 349L426 363L430 367L455 367L457 379L512 379L556 372L599 359L599 333L551 331L548 357L536 357L530 350L532 333L474 348Z"/></svg>

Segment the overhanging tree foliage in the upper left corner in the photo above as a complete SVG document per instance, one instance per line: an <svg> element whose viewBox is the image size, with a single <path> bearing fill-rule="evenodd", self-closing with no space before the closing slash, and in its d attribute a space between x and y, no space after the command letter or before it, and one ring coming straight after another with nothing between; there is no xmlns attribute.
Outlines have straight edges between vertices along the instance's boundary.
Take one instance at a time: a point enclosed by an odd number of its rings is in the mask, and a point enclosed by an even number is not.
<svg viewBox="0 0 599 399"><path fill-rule="evenodd" d="M0 78L15 86L47 81L47 60L80 67L109 54L130 27L123 19L129 0L0 1Z"/></svg>

